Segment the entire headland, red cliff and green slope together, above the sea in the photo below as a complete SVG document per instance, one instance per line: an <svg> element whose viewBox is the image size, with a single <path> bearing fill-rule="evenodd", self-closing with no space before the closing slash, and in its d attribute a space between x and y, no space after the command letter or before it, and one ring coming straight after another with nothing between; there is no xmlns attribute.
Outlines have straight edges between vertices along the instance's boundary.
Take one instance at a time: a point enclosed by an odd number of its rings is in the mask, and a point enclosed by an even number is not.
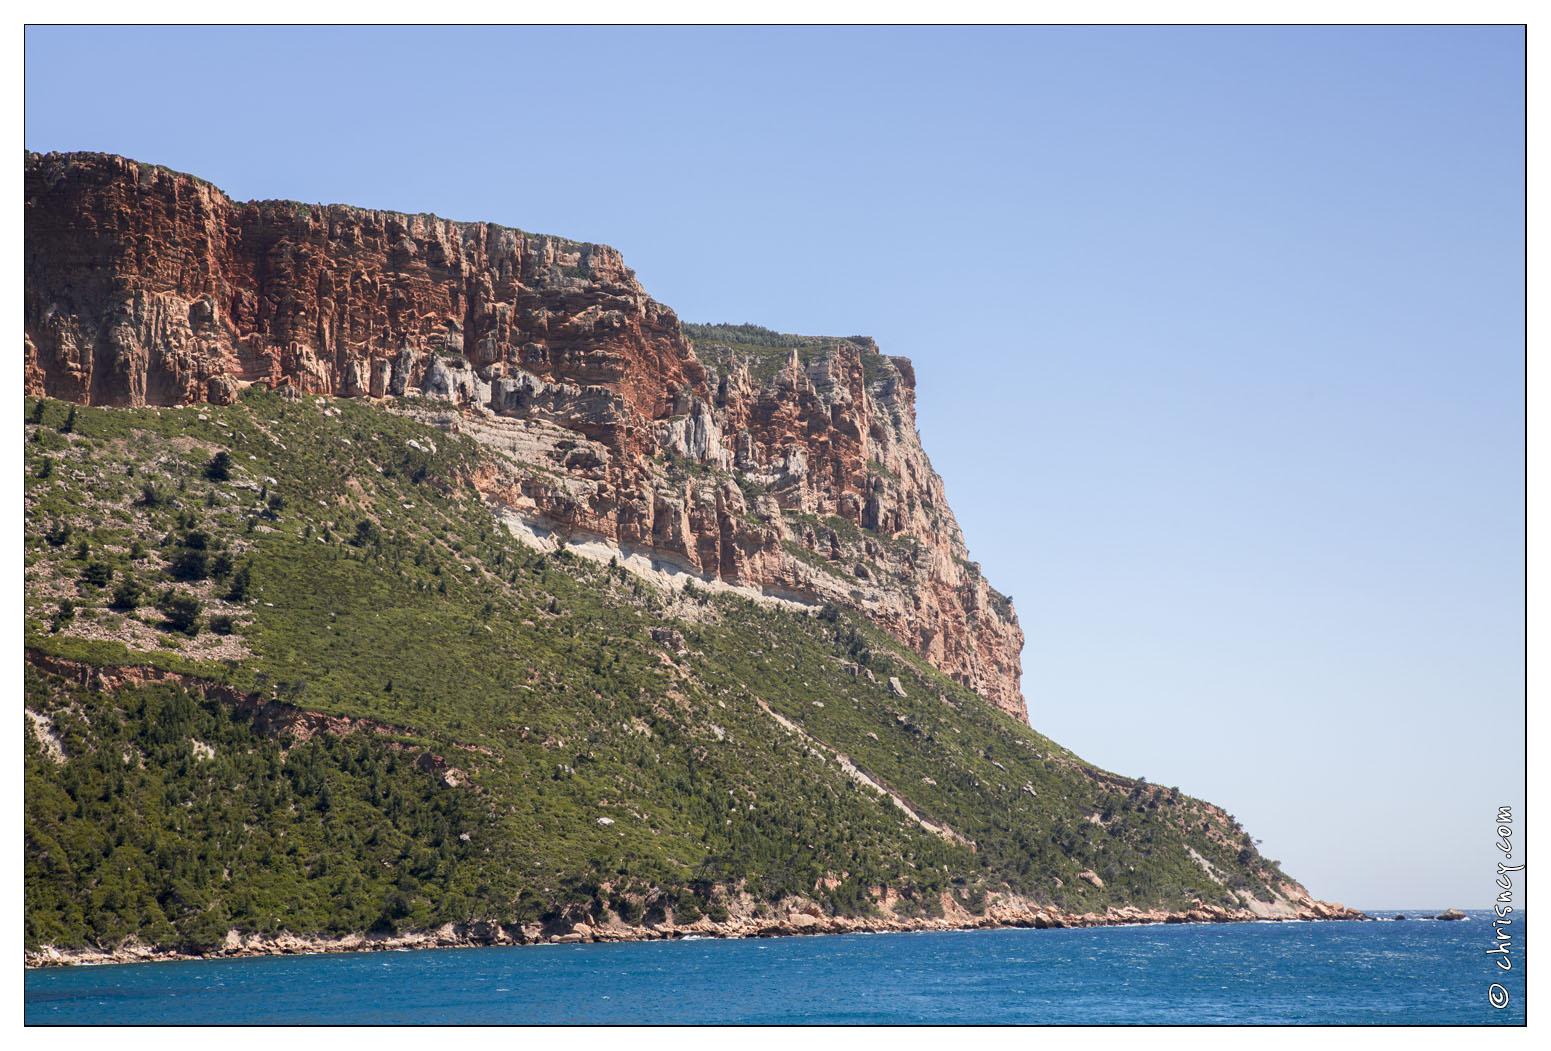
<svg viewBox="0 0 1551 1051"><path fill-rule="evenodd" d="M1028 727L864 336L101 155L26 264L31 963L1354 915Z"/></svg>

